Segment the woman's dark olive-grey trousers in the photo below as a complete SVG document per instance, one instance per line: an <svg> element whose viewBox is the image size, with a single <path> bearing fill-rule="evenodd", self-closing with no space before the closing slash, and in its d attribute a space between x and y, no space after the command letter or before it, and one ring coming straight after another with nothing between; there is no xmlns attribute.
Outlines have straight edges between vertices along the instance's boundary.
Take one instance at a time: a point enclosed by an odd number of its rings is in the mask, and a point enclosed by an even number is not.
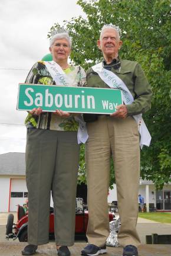
<svg viewBox="0 0 171 256"><path fill-rule="evenodd" d="M46 244L49 240L51 191L55 242L67 246L74 244L79 152L77 132L28 129L26 178L29 244Z"/></svg>

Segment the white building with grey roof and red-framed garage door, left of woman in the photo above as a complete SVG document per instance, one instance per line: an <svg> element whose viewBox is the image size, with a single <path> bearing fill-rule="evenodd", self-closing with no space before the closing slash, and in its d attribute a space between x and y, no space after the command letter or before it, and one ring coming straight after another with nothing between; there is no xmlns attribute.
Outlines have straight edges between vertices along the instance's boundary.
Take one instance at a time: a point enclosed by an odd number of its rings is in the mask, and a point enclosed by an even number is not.
<svg viewBox="0 0 171 256"><path fill-rule="evenodd" d="M27 194L25 153L0 155L0 212L15 212Z"/></svg>

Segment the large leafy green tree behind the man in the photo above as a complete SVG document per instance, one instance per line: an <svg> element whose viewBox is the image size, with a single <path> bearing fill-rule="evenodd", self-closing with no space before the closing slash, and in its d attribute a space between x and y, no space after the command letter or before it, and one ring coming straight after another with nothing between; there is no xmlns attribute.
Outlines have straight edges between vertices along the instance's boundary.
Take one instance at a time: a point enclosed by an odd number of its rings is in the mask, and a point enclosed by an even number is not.
<svg viewBox="0 0 171 256"><path fill-rule="evenodd" d="M144 120L152 143L150 148L143 148L141 175L161 189L164 183L171 181L170 1L79 0L77 4L87 18L80 16L63 24L73 38L71 60L85 69L99 62L102 55L96 41L101 27L113 23L122 31L120 57L139 62L149 79L153 90L152 108L144 115ZM54 24L51 31L58 25Z"/></svg>

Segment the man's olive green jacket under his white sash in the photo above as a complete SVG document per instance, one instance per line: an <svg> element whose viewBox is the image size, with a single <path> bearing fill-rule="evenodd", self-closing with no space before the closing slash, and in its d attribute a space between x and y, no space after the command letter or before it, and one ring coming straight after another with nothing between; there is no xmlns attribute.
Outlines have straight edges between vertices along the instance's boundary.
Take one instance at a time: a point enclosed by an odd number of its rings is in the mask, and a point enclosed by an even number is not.
<svg viewBox="0 0 171 256"><path fill-rule="evenodd" d="M141 114L151 107L152 90L146 75L139 63L130 60L120 60L120 69L111 68L119 78L126 84L133 95L133 103L126 105L128 116ZM100 76L92 68L87 71L87 87L108 88Z"/></svg>

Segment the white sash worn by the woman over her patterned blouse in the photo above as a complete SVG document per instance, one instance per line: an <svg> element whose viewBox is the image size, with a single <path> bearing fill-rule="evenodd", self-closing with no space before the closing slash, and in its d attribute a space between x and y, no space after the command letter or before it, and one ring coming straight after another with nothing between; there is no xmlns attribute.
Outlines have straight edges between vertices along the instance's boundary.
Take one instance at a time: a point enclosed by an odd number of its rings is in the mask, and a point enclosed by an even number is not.
<svg viewBox="0 0 171 256"><path fill-rule="evenodd" d="M63 86L70 85L70 81L68 77L65 75L63 69L60 67L60 65L58 65L58 63L54 62L53 60L45 61L44 63L48 69L48 72L50 72L52 78L54 79L56 85L63 85ZM88 133L87 133L86 124L83 120L83 117L81 117L80 115L80 116L74 117L74 119L79 123L78 133L77 133L78 144L80 144L81 142L85 143L88 139Z"/></svg>

